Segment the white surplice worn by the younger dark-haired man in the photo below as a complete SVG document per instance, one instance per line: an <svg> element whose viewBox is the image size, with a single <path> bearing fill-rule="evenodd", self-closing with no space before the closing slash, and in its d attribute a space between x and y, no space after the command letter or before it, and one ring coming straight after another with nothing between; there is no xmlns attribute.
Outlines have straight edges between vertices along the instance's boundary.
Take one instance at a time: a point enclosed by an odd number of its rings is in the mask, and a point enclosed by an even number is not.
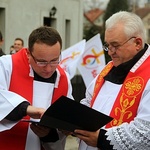
<svg viewBox="0 0 150 150"><path fill-rule="evenodd" d="M33 106L42 107L47 109L51 104L52 94L54 87L58 86L60 74L57 71L57 78L55 84L45 83L40 81L33 82ZM4 119L16 106L23 101L26 101L22 96L8 91L12 73L12 59L11 55L6 55L0 58L0 132L9 130L17 122L12 122ZM29 76L34 76L33 70L30 67ZM19 81L18 81L19 82ZM68 93L67 97L72 97L72 87L68 78ZM66 136L58 131L59 138L57 142L43 143L45 150L63 150L65 145ZM19 138L19 137L18 137ZM34 144L33 144L34 143ZM27 133L27 141L25 150L40 150L40 140L31 131L30 127Z"/></svg>

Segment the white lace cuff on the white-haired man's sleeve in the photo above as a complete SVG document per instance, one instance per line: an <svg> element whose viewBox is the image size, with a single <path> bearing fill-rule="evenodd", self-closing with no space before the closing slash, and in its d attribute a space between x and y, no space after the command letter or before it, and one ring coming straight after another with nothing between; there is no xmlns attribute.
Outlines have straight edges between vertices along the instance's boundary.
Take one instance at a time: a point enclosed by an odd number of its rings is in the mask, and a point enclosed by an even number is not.
<svg viewBox="0 0 150 150"><path fill-rule="evenodd" d="M123 123L107 130L107 139L114 150L149 150L150 122L135 119L130 124Z"/></svg>

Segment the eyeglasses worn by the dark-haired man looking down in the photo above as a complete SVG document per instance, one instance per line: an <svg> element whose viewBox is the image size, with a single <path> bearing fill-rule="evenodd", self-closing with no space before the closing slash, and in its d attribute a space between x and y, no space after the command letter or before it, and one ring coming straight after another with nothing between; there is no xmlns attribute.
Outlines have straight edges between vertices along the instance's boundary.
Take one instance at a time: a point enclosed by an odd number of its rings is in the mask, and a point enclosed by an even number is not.
<svg viewBox="0 0 150 150"><path fill-rule="evenodd" d="M35 63L39 66L39 67L45 67L47 66L48 64L51 65L51 67L56 67L59 63L60 63L60 60L61 60L61 57L59 57L59 60L51 60L50 62L47 62L47 61L37 61L37 59L33 56L33 54L30 52L33 60L35 61Z"/></svg>

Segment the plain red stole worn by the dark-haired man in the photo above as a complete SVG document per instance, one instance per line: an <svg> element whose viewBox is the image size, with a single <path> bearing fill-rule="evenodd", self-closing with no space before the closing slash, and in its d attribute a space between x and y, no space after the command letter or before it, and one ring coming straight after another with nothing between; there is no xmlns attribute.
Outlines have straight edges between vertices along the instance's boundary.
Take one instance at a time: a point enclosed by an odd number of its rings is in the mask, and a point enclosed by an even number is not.
<svg viewBox="0 0 150 150"><path fill-rule="evenodd" d="M33 77L29 76L30 67L26 56L26 49L22 49L12 55L12 76L9 90L13 91L32 104L33 97ZM58 88L54 89L52 103L61 95L67 95L68 81L65 72L58 66L61 74ZM50 91L51 92L51 91ZM29 119L29 116L25 117ZM1 150L25 150L28 123L19 122L12 129L0 133ZM34 143L33 143L34 147ZM32 148L31 148L32 149Z"/></svg>

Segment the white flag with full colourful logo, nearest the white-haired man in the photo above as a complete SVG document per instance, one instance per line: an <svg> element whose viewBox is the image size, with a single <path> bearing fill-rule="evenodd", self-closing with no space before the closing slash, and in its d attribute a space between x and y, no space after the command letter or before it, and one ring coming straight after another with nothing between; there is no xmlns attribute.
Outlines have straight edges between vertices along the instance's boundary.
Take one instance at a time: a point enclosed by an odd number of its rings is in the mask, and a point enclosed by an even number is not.
<svg viewBox="0 0 150 150"><path fill-rule="evenodd" d="M100 34L97 34L87 41L77 66L86 87L100 73L105 64Z"/></svg>

